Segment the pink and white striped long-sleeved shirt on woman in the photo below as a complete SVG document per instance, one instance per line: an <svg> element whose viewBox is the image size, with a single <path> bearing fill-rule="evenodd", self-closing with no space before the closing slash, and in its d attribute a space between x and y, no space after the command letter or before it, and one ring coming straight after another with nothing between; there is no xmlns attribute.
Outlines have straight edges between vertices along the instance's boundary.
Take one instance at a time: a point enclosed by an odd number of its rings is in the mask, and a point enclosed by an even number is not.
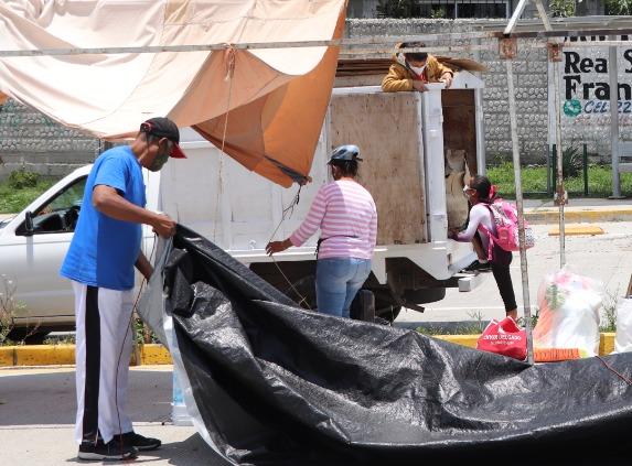
<svg viewBox="0 0 632 466"><path fill-rule="evenodd" d="M319 259L371 259L377 236L377 210L373 197L351 180L323 185L308 216L290 236L293 246L301 246L321 230Z"/></svg>

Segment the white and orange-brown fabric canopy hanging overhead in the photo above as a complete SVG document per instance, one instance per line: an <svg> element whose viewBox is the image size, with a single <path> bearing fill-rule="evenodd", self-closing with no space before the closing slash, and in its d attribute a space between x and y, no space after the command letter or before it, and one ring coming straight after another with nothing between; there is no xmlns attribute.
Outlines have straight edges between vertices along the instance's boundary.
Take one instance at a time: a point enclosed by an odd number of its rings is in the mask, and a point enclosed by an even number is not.
<svg viewBox="0 0 632 466"><path fill-rule="evenodd" d="M341 37L344 11L345 0L3 0L0 51L326 41ZM0 56L0 101L109 140L167 116L289 186L309 174L338 52Z"/></svg>

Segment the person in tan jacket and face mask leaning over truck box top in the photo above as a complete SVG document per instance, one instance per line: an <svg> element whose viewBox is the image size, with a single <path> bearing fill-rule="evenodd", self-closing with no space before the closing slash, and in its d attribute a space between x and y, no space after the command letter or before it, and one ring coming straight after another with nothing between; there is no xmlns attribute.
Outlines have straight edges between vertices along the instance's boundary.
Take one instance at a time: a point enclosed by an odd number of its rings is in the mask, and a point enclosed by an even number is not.
<svg viewBox="0 0 632 466"><path fill-rule="evenodd" d="M424 47L419 42L404 42L398 48ZM446 88L452 84L453 73L432 55L425 52L398 52L393 57L388 74L382 80L382 90L397 93L400 90L426 90L427 83L446 83Z"/></svg>

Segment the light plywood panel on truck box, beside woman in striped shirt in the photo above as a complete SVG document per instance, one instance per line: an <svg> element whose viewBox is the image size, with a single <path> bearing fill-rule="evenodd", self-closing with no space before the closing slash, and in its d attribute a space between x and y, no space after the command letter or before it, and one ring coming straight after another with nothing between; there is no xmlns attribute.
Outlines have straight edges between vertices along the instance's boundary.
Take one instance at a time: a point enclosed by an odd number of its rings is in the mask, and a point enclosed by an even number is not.
<svg viewBox="0 0 632 466"><path fill-rule="evenodd" d="M426 199L413 93L334 94L330 142L360 147L360 182L377 205L377 243L426 242Z"/></svg>

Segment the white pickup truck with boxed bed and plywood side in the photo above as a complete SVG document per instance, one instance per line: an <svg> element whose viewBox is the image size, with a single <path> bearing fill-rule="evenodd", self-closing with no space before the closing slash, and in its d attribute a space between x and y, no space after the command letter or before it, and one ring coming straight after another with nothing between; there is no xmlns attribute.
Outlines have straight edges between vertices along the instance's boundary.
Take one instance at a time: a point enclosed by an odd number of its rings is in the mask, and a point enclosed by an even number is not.
<svg viewBox="0 0 632 466"><path fill-rule="evenodd" d="M469 245L447 239L446 141L465 149L474 163L482 160L483 147L473 104L481 82L461 72L450 90L442 91L442 84L429 87L424 94L334 89L314 154L313 181L289 210L298 187L285 189L245 170L191 129L181 138L188 159L171 160L160 173L146 171L147 207L206 236L297 302L300 295L303 305L313 306L318 235L275 260L264 249L269 240L286 238L307 215L318 188L329 181L331 148L357 144L365 160L361 182L378 210L373 273L365 288L374 291L376 314L384 318L394 319L401 306L422 311L422 303L440 300L447 286L458 285L457 273L474 259ZM90 167L75 170L0 224L0 274L14 281L14 299L22 304L13 321L18 333L31 326L43 335L74 325L72 289L58 269L81 215ZM148 227L143 248L149 257L153 234Z"/></svg>

